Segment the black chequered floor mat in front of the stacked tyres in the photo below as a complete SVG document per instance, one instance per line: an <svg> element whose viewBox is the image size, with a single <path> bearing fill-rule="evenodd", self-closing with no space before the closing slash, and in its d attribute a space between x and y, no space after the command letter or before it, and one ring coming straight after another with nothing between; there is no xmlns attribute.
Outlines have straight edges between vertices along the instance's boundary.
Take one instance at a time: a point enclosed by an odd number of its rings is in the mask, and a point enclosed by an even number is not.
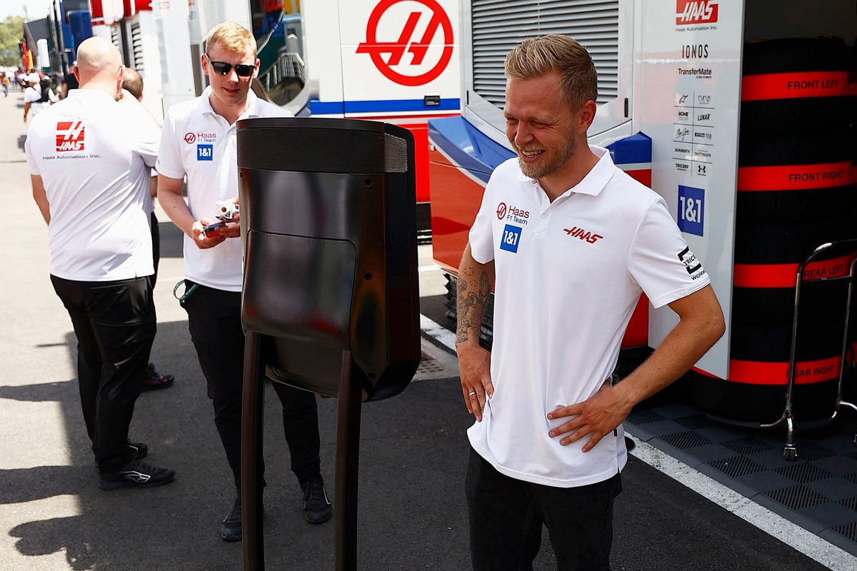
<svg viewBox="0 0 857 571"><path fill-rule="evenodd" d="M734 491L857 556L857 414L798 431L796 461L785 461L785 428L723 424L693 407L633 411L626 429Z"/></svg>

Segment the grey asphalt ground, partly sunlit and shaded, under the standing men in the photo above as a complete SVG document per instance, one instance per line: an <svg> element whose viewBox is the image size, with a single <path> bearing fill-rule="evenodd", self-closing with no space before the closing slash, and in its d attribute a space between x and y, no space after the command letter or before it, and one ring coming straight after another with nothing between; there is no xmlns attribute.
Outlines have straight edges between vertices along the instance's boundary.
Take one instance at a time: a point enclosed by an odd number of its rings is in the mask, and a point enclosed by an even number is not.
<svg viewBox="0 0 857 571"><path fill-rule="evenodd" d="M176 384L137 401L132 437L177 471L149 490L100 491L80 412L75 336L49 281L47 233L30 195L21 92L0 98L0 570L220 571L242 567L242 544L219 538L231 475L213 425L186 316L181 235L161 216L153 361ZM421 265L430 265L421 247ZM421 273L423 312L442 321L442 279ZM363 407L359 568L470 568L463 477L471 419L454 355L431 340L420 380ZM333 497L337 402L319 403L322 470ZM334 568L333 525L309 526L289 471L277 399L266 393L267 568ZM616 501L614 570L812 571L824 565L632 457ZM544 544L536 569L555 568ZM842 567L840 567L842 568Z"/></svg>

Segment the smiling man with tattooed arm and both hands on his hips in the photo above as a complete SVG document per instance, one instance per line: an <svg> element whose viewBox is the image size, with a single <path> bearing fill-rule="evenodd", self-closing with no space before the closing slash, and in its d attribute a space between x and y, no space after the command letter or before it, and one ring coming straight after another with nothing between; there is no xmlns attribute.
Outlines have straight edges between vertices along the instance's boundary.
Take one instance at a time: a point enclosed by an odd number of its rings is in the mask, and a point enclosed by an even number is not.
<svg viewBox="0 0 857 571"><path fill-rule="evenodd" d="M709 278L663 199L588 146L597 74L561 35L506 57L518 158L488 181L458 278L473 568L531 568L547 526L558 568L609 569L613 500L634 404L686 372L724 329ZM494 345L479 327L494 285ZM680 322L621 383L610 376L641 292Z"/></svg>

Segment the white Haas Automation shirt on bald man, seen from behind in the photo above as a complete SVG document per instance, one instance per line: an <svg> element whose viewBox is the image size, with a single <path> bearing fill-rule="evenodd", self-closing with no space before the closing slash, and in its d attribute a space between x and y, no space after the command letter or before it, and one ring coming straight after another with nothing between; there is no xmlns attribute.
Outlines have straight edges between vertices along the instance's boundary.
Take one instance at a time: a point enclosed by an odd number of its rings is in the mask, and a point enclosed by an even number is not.
<svg viewBox="0 0 857 571"><path fill-rule="evenodd" d="M27 164L50 204L51 275L82 282L150 276L143 210L159 133L105 92L75 89L27 131Z"/></svg>

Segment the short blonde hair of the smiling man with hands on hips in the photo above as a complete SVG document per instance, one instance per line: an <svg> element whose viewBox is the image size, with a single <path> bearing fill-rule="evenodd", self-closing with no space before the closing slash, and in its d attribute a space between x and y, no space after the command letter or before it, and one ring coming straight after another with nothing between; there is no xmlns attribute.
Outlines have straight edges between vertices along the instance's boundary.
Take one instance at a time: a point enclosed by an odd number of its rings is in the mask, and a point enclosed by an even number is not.
<svg viewBox="0 0 857 571"><path fill-rule="evenodd" d="M578 109L598 98L598 72L584 46L559 33L524 39L506 55L506 77L531 80L560 74L560 95Z"/></svg>

